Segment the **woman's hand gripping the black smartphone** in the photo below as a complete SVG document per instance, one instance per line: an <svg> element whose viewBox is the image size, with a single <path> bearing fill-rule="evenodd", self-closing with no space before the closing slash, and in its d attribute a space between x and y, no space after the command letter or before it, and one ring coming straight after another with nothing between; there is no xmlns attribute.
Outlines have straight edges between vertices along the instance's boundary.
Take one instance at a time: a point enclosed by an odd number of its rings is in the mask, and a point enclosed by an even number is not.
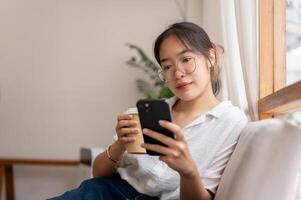
<svg viewBox="0 0 301 200"><path fill-rule="evenodd" d="M141 146L162 155L159 159L165 162L170 168L177 171L181 176L190 177L198 173L196 164L191 157L187 142L181 128L171 122L160 120L159 124L174 133L175 138L167 137L158 132L143 129L143 133L149 137L159 140L167 147L157 144L144 143Z"/></svg>

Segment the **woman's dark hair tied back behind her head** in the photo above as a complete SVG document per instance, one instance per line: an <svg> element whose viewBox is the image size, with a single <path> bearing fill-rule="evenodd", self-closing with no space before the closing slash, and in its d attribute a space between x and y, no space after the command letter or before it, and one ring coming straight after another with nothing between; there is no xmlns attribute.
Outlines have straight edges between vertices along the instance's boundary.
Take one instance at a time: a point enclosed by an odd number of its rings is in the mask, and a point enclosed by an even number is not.
<svg viewBox="0 0 301 200"><path fill-rule="evenodd" d="M157 62L160 63L160 48L162 42L171 35L175 35L185 47L190 47L193 50L200 52L209 60L212 67L210 67L211 86L214 95L220 91L220 67L218 66L218 57L216 56L216 46L210 41L208 34L198 25L191 22L180 22L170 25L163 33L161 33L155 41L154 54ZM210 53L211 49L215 50L215 63L211 63Z"/></svg>

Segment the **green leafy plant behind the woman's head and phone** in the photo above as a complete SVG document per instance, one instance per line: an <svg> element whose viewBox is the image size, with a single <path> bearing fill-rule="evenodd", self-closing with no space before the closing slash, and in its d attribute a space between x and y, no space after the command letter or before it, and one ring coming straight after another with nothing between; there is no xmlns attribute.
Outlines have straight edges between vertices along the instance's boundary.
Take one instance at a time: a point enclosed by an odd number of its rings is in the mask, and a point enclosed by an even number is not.
<svg viewBox="0 0 301 200"><path fill-rule="evenodd" d="M137 45L127 44L127 46L137 52L138 58L133 56L126 63L131 67L143 70L149 77L149 80L136 80L136 86L144 97L148 99L172 97L172 92L165 87L164 82L160 80L157 74L160 66L156 65Z"/></svg>

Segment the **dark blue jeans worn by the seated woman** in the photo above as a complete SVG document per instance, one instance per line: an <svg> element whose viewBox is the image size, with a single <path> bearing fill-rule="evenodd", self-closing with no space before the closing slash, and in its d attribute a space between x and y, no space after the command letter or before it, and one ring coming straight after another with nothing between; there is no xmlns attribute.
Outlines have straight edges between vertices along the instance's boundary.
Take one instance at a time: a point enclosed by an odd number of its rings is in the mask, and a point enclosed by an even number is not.
<svg viewBox="0 0 301 200"><path fill-rule="evenodd" d="M119 175L110 178L92 178L83 181L74 190L49 200L156 200L139 193Z"/></svg>

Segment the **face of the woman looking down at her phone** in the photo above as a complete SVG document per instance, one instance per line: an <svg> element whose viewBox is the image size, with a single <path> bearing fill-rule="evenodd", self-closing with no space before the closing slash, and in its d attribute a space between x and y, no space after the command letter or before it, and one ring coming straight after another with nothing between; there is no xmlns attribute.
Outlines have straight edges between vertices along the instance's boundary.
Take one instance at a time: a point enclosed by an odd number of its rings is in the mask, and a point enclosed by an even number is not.
<svg viewBox="0 0 301 200"><path fill-rule="evenodd" d="M177 69L166 85L178 98L191 101L211 89L209 61L201 53L186 48L176 36L171 35L162 42L159 54L163 70ZM196 65L192 73L185 73L176 67L179 66L178 63L191 58L195 58Z"/></svg>

